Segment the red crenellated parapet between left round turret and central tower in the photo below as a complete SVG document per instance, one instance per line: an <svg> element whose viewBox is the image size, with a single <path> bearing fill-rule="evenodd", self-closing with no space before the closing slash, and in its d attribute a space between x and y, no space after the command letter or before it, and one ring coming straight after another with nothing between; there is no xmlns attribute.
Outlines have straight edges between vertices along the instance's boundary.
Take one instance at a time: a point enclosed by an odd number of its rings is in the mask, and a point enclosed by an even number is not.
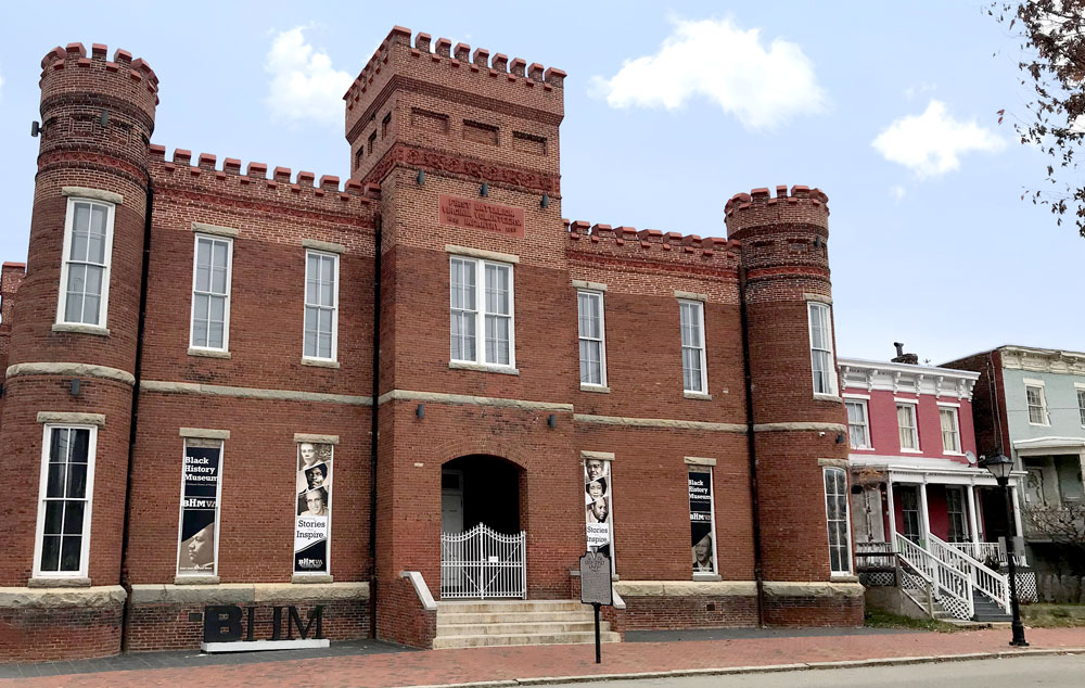
<svg viewBox="0 0 1085 688"><path fill-rule="evenodd" d="M362 184L357 180L349 179L341 186L340 178L336 176L323 175L317 180L314 173L298 171L294 175L290 167L275 167L269 177L268 166L264 163L251 162L242 174L240 160L224 158L222 165L219 167L217 166L218 157L210 153L201 153L196 156L195 165L193 165L192 152L186 149L176 149L173 157L167 161L166 148L154 143L151 144L150 160L152 165L161 166L166 174L187 174L189 177L203 177L224 184L266 188L280 193L305 196L308 203L320 203L320 200L324 199L324 203L330 204L337 199L340 202L357 201L362 205L368 205L381 196L380 187L373 183Z"/></svg>

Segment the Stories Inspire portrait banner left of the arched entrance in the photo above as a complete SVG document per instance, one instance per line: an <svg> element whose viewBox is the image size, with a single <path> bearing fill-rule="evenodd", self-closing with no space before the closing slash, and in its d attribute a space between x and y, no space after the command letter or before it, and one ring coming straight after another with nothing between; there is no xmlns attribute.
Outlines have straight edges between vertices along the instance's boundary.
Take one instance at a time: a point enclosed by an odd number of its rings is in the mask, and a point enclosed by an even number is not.
<svg viewBox="0 0 1085 688"><path fill-rule="evenodd" d="M294 573L328 573L328 534L332 514L333 445L297 445L297 522L294 524Z"/></svg>

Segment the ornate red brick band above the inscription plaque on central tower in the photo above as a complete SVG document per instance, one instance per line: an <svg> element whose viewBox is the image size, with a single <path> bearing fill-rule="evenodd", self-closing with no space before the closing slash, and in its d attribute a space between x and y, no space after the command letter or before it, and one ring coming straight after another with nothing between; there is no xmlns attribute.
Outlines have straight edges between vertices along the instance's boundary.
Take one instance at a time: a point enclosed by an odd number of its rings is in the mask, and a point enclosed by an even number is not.
<svg viewBox="0 0 1085 688"><path fill-rule="evenodd" d="M422 168L461 179L485 180L490 184L512 187L518 190L561 193L561 177L529 169L495 165L465 155L450 155L397 142L384 154L366 176L365 181L380 183L397 165Z"/></svg>

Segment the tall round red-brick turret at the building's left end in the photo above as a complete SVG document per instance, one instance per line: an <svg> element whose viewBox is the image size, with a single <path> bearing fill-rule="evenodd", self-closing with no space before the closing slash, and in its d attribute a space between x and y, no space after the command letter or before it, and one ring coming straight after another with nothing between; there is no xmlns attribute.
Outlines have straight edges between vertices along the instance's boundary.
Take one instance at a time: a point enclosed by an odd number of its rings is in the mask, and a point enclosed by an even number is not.
<svg viewBox="0 0 1085 688"><path fill-rule="evenodd" d="M117 50L110 59L106 47L98 43L89 54L81 43L55 48L46 54L41 67L41 144L29 252L12 319L0 424L0 446L4 447L0 481L23 497L3 508L12 537L0 562L0 585L90 585L119 590L115 586L120 581L146 164L157 77L127 51ZM73 245L65 243L66 227L77 212L94 218L92 232L106 228L103 252L88 253L78 239L71 240ZM75 257L104 263L107 281L99 290L89 271L86 291L91 296L86 303L67 304L69 289L82 290L77 270L90 270L82 265L69 268L67 282L62 284L65 258ZM101 309L94 296L99 292ZM7 308L4 315L9 315ZM50 577L51 572L42 575L36 568L35 558L40 563L42 555L35 553L35 513L41 509L34 504L43 474L42 422L49 420L98 426L93 494L88 495L92 497L92 537L78 559L81 577ZM49 613L56 615L58 627L84 624L80 627L87 628L86 636L97 651L116 651L120 608L116 596L110 599L113 603L99 599L93 609L59 606ZM58 627L42 632L56 633Z"/></svg>

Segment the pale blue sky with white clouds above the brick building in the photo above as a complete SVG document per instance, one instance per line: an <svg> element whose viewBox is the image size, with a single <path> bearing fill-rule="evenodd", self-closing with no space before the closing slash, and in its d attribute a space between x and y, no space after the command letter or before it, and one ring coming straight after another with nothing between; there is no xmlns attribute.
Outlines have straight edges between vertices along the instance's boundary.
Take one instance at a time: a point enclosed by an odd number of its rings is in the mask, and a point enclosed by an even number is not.
<svg viewBox="0 0 1085 688"><path fill-rule="evenodd" d="M825 190L842 356L1085 351L1085 240L1021 201L1047 162L1016 140L1018 42L983 2L162 4L0 10L0 258L26 256L52 47L146 60L168 151L346 178L343 84L399 24L569 73L570 219L722 237L735 193Z"/></svg>

